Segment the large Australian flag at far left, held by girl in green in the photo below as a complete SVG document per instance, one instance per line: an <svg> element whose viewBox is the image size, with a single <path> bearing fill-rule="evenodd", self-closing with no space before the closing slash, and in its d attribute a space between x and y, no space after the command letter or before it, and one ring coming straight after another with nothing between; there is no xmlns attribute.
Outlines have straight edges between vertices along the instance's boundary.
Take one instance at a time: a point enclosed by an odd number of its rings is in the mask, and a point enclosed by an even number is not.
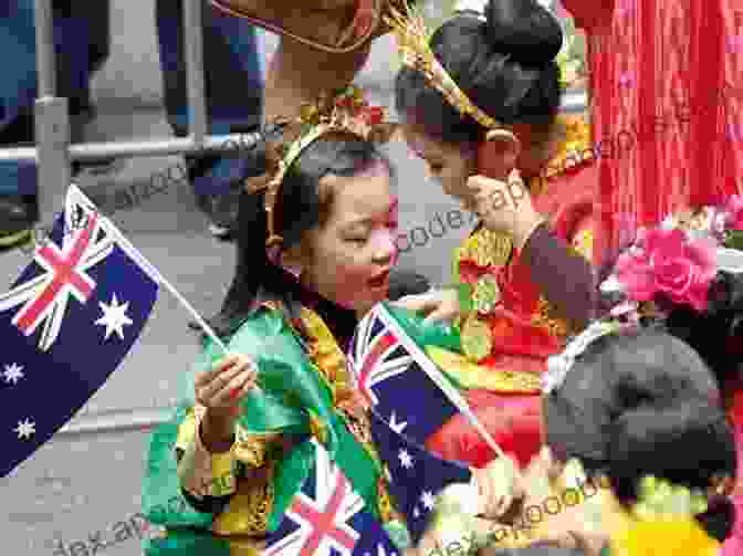
<svg viewBox="0 0 743 556"><path fill-rule="evenodd" d="M32 263L0 295L0 476L46 442L142 333L158 282L73 185Z"/></svg>

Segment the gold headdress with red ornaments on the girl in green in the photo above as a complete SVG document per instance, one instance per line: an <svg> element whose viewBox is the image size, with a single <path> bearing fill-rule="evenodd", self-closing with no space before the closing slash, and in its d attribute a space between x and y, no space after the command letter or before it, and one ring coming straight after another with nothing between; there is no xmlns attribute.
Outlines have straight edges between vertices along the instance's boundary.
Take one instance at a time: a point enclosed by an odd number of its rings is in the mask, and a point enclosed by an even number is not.
<svg viewBox="0 0 743 556"><path fill-rule="evenodd" d="M345 132L363 139L385 143L394 133L396 125L385 122L385 111L372 106L364 93L356 86L349 86L334 94L324 94L312 104L302 106L300 117L294 120L279 118L285 126L283 136L293 137L274 146L276 159L269 168L268 179L249 185L251 192L265 190L264 208L268 218L269 239L266 246L275 246L283 241L275 232L274 207L279 200L281 183L302 151L328 133ZM266 155L269 155L266 153ZM272 160L270 156L269 165Z"/></svg>

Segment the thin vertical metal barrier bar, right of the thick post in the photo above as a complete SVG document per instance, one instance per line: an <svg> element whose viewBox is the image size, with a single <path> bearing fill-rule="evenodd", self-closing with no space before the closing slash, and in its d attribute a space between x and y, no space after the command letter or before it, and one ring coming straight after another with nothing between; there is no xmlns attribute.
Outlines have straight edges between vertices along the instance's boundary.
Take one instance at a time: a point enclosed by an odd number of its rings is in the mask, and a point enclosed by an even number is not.
<svg viewBox="0 0 743 556"><path fill-rule="evenodd" d="M184 1L184 46L188 80L189 130L197 145L207 135L207 108L203 78L203 0ZM217 61L216 63L219 63Z"/></svg>

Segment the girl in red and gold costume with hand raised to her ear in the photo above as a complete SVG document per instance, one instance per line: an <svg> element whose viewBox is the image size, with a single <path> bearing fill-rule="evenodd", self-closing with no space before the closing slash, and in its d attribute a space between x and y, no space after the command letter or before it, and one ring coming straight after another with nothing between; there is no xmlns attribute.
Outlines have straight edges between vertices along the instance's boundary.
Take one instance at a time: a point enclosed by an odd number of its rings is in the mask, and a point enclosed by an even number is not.
<svg viewBox="0 0 743 556"><path fill-rule="evenodd" d="M456 319L467 357L437 363L470 387L478 419L524 465L542 443L545 359L593 310L597 172L585 156L586 123L558 115L561 24L535 0L493 0L428 42L409 15L396 31L407 143L442 189L480 216L454 253L456 284L402 304ZM474 465L495 457L462 416L427 445Z"/></svg>

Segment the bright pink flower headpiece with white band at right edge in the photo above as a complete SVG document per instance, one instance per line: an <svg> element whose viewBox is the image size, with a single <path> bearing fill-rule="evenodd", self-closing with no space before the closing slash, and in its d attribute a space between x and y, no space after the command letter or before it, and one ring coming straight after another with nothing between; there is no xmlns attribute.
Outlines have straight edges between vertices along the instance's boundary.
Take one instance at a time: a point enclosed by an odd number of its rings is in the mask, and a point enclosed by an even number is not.
<svg viewBox="0 0 743 556"><path fill-rule="evenodd" d="M614 303L608 314L574 337L562 354L547 359L542 389L558 389L574 361L608 334L661 324L670 308L708 308L710 287L720 271L743 273L743 197L721 207L703 207L640 229L599 290Z"/></svg>

